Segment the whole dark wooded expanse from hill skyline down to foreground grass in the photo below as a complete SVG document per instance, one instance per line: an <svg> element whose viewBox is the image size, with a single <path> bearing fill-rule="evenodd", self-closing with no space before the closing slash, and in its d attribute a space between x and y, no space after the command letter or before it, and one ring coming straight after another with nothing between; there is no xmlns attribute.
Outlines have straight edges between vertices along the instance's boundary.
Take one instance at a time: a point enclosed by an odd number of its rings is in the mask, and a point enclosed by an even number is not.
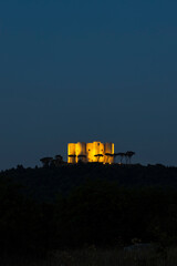
<svg viewBox="0 0 177 266"><path fill-rule="evenodd" d="M0 258L177 245L177 168L79 164L0 174Z"/></svg>

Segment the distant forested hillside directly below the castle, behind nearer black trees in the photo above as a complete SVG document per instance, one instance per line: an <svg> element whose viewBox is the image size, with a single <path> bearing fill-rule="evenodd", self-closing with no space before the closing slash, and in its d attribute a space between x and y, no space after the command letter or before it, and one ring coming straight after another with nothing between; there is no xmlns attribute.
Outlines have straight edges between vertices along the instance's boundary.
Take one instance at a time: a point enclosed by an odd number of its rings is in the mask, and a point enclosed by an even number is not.
<svg viewBox="0 0 177 266"><path fill-rule="evenodd" d="M9 177L24 186L23 191L39 201L53 202L59 193L67 194L86 180L106 180L121 186L162 186L177 188L177 167L164 165L61 165L7 170L0 176Z"/></svg>

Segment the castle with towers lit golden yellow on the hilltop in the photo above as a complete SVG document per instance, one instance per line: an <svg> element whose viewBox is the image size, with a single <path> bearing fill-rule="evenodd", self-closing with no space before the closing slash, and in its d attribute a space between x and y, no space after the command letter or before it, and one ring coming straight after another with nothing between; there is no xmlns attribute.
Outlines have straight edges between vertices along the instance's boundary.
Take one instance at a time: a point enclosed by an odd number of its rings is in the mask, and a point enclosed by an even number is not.
<svg viewBox="0 0 177 266"><path fill-rule="evenodd" d="M114 143L77 142L67 144L67 163L114 163Z"/></svg>

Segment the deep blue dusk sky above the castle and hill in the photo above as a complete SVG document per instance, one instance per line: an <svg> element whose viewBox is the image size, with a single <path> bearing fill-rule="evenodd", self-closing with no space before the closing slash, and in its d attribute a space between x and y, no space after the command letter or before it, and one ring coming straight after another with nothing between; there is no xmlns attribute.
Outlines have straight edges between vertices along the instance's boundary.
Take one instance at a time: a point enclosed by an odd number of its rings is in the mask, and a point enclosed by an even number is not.
<svg viewBox="0 0 177 266"><path fill-rule="evenodd" d="M77 141L177 165L176 11L175 0L1 0L0 168Z"/></svg>

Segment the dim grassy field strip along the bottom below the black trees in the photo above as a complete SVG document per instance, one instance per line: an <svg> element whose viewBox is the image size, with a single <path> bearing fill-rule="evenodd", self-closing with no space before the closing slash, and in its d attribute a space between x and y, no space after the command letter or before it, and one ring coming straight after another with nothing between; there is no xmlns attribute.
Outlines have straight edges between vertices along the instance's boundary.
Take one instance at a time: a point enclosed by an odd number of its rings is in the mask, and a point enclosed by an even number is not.
<svg viewBox="0 0 177 266"><path fill-rule="evenodd" d="M8 262L9 260L9 262ZM7 259L3 266L176 266L177 248L165 252L155 248L144 249L86 249L51 252L46 258Z"/></svg>

